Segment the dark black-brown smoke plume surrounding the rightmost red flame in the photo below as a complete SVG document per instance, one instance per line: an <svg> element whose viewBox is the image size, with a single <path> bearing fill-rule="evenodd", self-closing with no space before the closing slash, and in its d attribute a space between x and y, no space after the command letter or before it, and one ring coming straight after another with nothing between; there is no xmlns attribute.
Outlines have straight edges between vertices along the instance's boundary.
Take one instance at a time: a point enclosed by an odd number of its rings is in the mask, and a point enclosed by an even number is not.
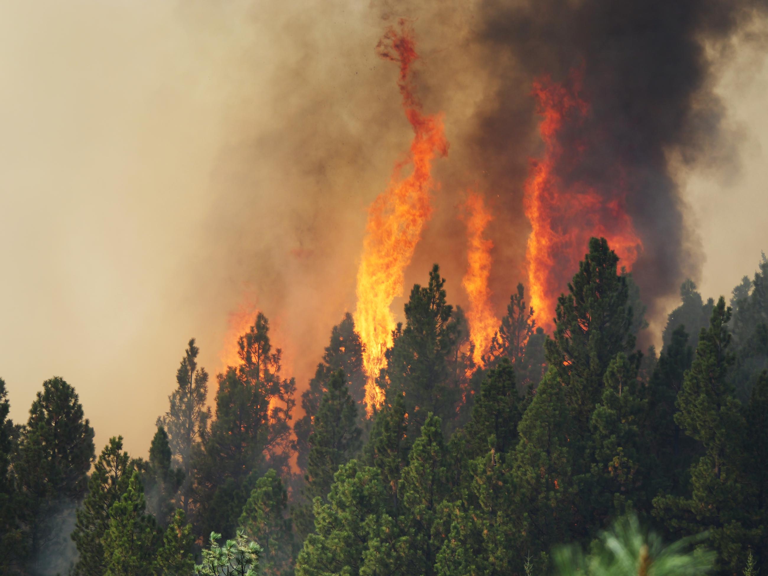
<svg viewBox="0 0 768 576"><path fill-rule="evenodd" d="M634 277L652 316L684 278L697 277L702 259L674 165L733 170L737 153L713 93L714 72L733 38L765 12L766 2L757 0L538 0L482 8L478 38L495 55L490 65L500 78L475 136L490 180L521 190L522 162L533 152L525 146L538 120L527 94L533 79L550 74L561 82L582 67L590 113L564 141L580 144L584 154L558 176L594 186L605 198L624 176L627 211L644 242ZM509 200L519 222L519 195Z"/></svg>

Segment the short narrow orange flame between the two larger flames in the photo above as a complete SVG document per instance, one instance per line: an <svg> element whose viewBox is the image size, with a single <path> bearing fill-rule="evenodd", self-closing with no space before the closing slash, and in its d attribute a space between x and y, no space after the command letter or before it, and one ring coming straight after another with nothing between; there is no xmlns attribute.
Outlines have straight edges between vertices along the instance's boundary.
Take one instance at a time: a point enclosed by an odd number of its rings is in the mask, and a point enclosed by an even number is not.
<svg viewBox="0 0 768 576"><path fill-rule="evenodd" d="M488 290L493 242L483 237L492 216L485 209L485 201L478 193L469 193L465 209L468 212L467 272L462 278L462 286L469 297L469 337L475 343L475 363L480 364L499 324L491 309L491 292Z"/></svg>

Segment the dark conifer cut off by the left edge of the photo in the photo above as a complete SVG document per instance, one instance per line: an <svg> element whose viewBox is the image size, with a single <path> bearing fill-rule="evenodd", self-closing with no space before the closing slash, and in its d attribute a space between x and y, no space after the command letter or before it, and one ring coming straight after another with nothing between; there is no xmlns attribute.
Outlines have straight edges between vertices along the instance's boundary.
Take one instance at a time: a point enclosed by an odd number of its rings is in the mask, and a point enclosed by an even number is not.
<svg viewBox="0 0 768 576"><path fill-rule="evenodd" d="M0 378L0 574L10 570L18 560L21 527L18 524L18 493L11 475L11 458L15 451L15 428L8 418L11 405L5 380Z"/></svg>

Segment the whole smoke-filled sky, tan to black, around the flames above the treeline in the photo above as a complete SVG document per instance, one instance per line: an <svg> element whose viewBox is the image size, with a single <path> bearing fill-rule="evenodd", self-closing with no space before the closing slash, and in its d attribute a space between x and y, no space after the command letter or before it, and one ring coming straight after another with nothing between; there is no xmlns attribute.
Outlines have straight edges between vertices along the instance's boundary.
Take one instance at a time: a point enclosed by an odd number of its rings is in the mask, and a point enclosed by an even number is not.
<svg viewBox="0 0 768 576"><path fill-rule="evenodd" d="M768 244L768 142L734 131L768 122L763 35L748 34L762 12L691 0L0 3L12 417L24 421L59 375L98 447L122 434L141 456L188 339L216 374L243 309L270 318L286 376L306 387L331 327L354 311L366 209L412 138L397 67L375 51L400 17L415 30L415 90L450 143L405 295L438 262L449 301L466 305L459 216L474 189L494 216L504 312L526 279L523 184L542 150L531 84L578 66L591 108L572 137L590 138L590 153L563 176L610 196L612 166L627 170L645 246L636 278L659 318L686 275L727 292ZM743 186L723 183L740 161Z"/></svg>

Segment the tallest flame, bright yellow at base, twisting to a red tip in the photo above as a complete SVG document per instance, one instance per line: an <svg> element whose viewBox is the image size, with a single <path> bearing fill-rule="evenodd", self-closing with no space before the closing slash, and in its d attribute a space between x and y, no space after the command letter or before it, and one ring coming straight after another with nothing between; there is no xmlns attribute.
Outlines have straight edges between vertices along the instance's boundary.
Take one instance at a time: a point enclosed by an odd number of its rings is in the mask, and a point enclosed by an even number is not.
<svg viewBox="0 0 768 576"><path fill-rule="evenodd" d="M376 377L384 367L384 353L392 346L395 318L392 300L402 295L403 272L421 239L422 228L431 213L432 160L448 153L441 115L424 115L411 84L410 67L419 58L412 30L399 21L400 30L389 28L376 47L379 55L400 66L398 86L402 106L413 127L414 137L406 159L396 164L386 191L373 201L368 212L366 239L357 272L355 325L366 351L363 364L368 375L366 411L381 406L384 392ZM409 176L402 169L412 164Z"/></svg>

